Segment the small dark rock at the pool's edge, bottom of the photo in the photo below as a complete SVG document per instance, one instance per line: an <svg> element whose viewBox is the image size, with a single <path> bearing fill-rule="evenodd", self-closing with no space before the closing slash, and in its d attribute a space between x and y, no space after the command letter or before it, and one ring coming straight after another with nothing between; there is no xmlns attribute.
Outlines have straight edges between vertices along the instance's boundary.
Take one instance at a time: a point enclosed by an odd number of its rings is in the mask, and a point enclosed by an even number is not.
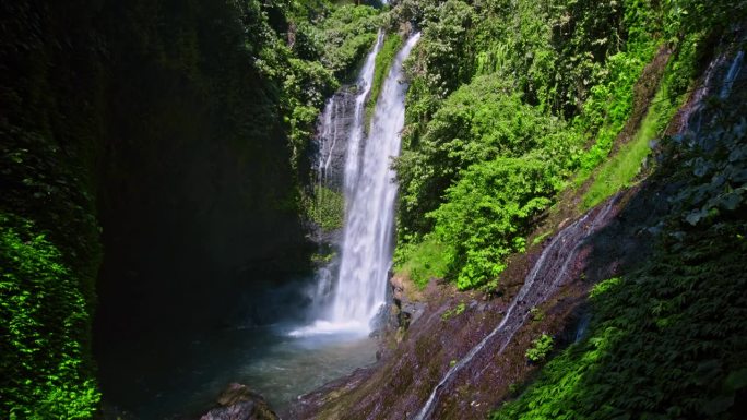
<svg viewBox="0 0 747 420"><path fill-rule="evenodd" d="M280 420L264 397L248 386L233 383L217 399L213 408L200 420Z"/></svg>

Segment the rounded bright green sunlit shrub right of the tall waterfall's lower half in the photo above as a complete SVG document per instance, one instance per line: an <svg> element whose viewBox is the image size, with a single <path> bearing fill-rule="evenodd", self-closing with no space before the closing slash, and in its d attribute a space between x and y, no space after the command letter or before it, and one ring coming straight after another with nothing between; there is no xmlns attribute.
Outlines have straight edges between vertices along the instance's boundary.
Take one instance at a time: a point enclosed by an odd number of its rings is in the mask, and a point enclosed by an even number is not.
<svg viewBox="0 0 747 420"><path fill-rule="evenodd" d="M447 190L447 203L428 217L460 289L495 278L509 254L524 250L532 217L557 191L553 169L542 157L498 158L470 167Z"/></svg>

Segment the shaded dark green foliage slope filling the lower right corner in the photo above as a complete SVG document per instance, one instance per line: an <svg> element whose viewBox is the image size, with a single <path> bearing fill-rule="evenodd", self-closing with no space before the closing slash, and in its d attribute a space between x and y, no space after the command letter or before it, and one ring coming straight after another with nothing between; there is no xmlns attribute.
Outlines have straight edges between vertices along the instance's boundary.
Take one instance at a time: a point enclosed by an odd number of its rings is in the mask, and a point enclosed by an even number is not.
<svg viewBox="0 0 747 420"><path fill-rule="evenodd" d="M732 116L734 117L734 116ZM684 185L637 271L591 293L588 335L494 419L736 419L747 389L745 120L665 163ZM734 124L734 122L736 122Z"/></svg>

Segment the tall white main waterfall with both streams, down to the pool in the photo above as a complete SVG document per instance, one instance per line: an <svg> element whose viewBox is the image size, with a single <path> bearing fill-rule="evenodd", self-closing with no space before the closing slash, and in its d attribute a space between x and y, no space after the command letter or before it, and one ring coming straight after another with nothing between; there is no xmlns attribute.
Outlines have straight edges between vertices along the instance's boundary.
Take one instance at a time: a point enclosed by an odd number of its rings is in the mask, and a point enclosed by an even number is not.
<svg viewBox="0 0 747 420"><path fill-rule="evenodd" d="M396 184L391 159L400 154L400 132L404 127L404 98L407 85L402 83L402 64L419 39L415 34L394 57L366 136L365 104L371 88L374 63L379 40L364 64L358 81L353 127L347 139L344 171L345 227L342 241L340 274L329 308L312 325L292 335L352 333L368 334L369 323L384 304L387 273L392 257L394 199ZM333 106L334 103L331 103ZM330 111L334 113L334 110ZM328 119L324 130L333 130Z"/></svg>

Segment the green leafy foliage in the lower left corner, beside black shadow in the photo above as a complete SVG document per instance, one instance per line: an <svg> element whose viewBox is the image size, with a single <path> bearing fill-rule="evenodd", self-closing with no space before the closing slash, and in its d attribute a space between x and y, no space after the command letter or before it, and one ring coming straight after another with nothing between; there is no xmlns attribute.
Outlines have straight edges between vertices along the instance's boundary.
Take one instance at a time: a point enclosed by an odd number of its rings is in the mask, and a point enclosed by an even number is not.
<svg viewBox="0 0 747 420"><path fill-rule="evenodd" d="M0 407L10 419L88 419L90 315L79 279L29 221L0 214Z"/></svg>

